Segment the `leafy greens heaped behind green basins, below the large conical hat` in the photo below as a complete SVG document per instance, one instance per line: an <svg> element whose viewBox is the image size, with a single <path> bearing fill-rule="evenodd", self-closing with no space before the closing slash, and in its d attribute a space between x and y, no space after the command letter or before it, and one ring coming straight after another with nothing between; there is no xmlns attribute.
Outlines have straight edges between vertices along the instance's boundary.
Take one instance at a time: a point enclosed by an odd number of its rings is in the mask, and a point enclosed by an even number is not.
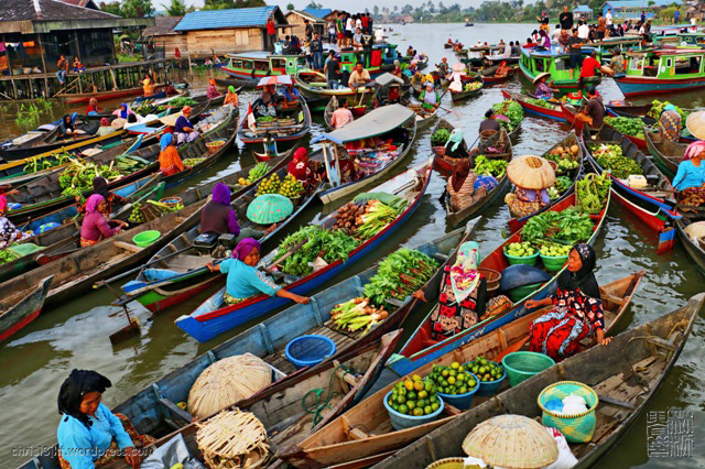
<svg viewBox="0 0 705 469"><path fill-rule="evenodd" d="M573 246L585 242L593 236L593 220L576 207L563 211L544 211L531 217L521 231L522 241L534 246L553 241Z"/></svg>

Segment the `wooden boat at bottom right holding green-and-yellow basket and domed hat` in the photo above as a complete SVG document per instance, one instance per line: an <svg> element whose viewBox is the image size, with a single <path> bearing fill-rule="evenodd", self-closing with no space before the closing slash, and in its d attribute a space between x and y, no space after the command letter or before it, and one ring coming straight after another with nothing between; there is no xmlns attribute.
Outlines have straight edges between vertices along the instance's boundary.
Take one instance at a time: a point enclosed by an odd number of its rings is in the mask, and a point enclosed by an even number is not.
<svg viewBox="0 0 705 469"><path fill-rule="evenodd" d="M634 424L664 382L704 301L705 294L695 295L685 307L622 332L605 347L593 347L549 368L496 399L474 406L375 467L424 468L442 458L465 456L460 448L463 440L481 422L508 413L540 418L542 411L536 396L557 381L584 383L599 397L593 439L571 445L571 451L578 459L574 468L594 467Z"/></svg>

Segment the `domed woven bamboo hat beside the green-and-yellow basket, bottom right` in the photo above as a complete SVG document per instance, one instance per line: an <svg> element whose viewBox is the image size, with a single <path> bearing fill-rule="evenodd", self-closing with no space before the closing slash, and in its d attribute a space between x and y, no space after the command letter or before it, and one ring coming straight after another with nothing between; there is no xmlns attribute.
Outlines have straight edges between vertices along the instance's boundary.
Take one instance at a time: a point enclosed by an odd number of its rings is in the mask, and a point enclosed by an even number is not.
<svg viewBox="0 0 705 469"><path fill-rule="evenodd" d="M532 469L558 459L558 445L538 422L523 415L499 415L465 437L463 450L489 466Z"/></svg>

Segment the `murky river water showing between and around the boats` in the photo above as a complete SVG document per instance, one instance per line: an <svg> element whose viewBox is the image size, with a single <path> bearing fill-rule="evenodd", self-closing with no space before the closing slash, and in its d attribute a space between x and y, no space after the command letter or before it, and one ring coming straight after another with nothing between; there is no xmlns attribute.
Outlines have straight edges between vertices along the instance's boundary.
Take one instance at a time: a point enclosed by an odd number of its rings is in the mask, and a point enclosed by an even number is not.
<svg viewBox="0 0 705 469"><path fill-rule="evenodd" d="M464 28L462 24L432 25L393 25L389 32L389 41L399 44L405 51L409 45L431 57L437 63L444 55L454 62L453 54L443 48L449 36L466 44L478 40L488 43L524 40L533 30L528 24L478 24ZM195 87L203 86L200 79L192 79ZM522 84L513 78L507 88L520 90ZM599 88L606 99L619 99L621 94L609 79ZM241 96L241 116L252 94ZM705 94L690 94L669 97L685 108L703 107ZM477 135L477 128L485 111L500 101L500 88L487 88L482 95L454 106L449 97L444 99L447 111L445 118L456 127L460 127L468 142ZM638 101L639 102L639 101ZM117 103L101 103L109 107ZM0 139L4 140L20 132L14 119L13 105L4 105L0 110ZM67 109L53 103L48 111L42 112L42 121L57 119ZM323 131L322 117L316 117L312 134ZM519 143L514 145L514 154L542 154L570 130L567 124L527 117L522 123ZM431 155L430 137L433 129L417 135L414 149L409 156L411 165L425 161ZM307 142L302 142L307 143ZM203 175L196 184L215 175L232 172L241 166L252 164L249 150L236 150ZM400 172L403 168L400 168ZM184 187L180 187L182 190ZM444 181L434 175L427 194L413 218L410 219L384 246L359 265L347 270L334 284L348 275L359 272L381 257L394 251L400 246L416 246L432 240L448 230L445 223L445 208L440 201L444 189ZM323 207L315 205L292 223L290 232L321 216ZM481 251L490 252L502 240L502 229L509 219L509 211L502 204L495 204L482 214L484 220L477 230L477 239ZM694 269L685 252L676 243L675 249L666 254L657 255L657 236L629 212L612 205L609 210L606 229L596 246L599 255L597 279L600 283L623 277L639 270L647 275L636 294L630 310L618 325L621 331L643 324L673 308L683 306L687 298L705 290L703 276ZM327 285L324 285L324 287ZM105 403L113 406L128 399L151 382L185 364L209 348L235 336L238 330L224 334L217 339L199 345L184 335L174 319L182 314L191 313L212 292L196 297L160 314L149 323L141 337L129 339L118 346L111 346L108 336L124 325L121 309L109 306L115 298L106 288L80 295L75 301L53 310L43 312L34 323L17 334L11 341L0 347L0 467L15 467L23 459L17 454L18 448L51 445L56 438L58 414L56 396L62 381L74 369L93 369L108 377L113 386L104 395ZM144 317L147 309L137 303L130 309ZM696 422L702 422L705 410L705 358L703 357L703 315L691 335L676 366L669 373L664 385L648 404L648 411L668 411L680 408L694 412ZM419 324L425 312L417 312L404 324L405 336ZM246 325L250 327L251 325ZM616 357L617 359L617 357ZM599 367L599 363L595 364ZM702 444L702 426L695 426L695 445L693 457L668 459L649 458L647 454L647 417L642 414L637 424L629 430L606 459L604 467L705 467L705 447Z"/></svg>

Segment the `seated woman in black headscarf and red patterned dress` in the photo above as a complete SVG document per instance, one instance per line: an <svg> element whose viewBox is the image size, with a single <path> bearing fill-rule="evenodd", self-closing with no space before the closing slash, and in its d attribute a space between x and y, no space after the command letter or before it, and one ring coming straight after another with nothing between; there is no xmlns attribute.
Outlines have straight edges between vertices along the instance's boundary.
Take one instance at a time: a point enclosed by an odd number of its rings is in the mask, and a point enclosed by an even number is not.
<svg viewBox="0 0 705 469"><path fill-rule="evenodd" d="M609 343L599 286L593 274L595 262L589 244L576 244L568 254L568 268L558 275L555 295L525 303L527 308L553 305L550 313L531 325L531 351L562 360L581 351L585 338L594 336L597 343Z"/></svg>

